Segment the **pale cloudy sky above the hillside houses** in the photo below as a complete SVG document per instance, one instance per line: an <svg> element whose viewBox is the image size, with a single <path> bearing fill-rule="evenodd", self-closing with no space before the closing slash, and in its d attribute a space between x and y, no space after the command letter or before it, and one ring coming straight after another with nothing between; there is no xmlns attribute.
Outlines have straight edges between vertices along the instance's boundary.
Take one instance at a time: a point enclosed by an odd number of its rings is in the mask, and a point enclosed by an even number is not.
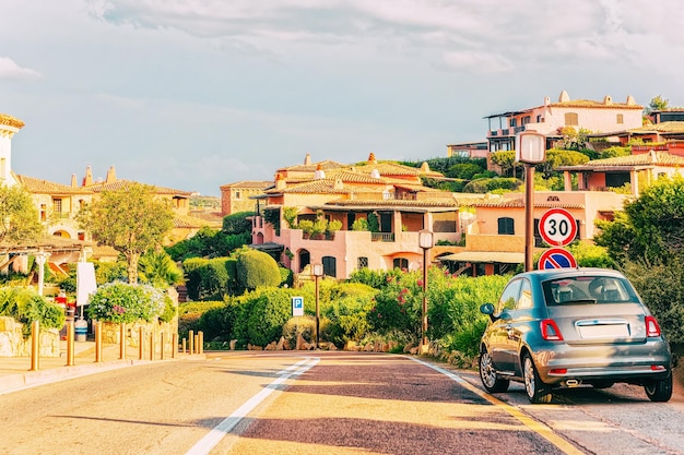
<svg viewBox="0 0 684 455"><path fill-rule="evenodd" d="M426 159L556 100L684 106L680 0L3 0L16 173L219 195L315 161Z"/></svg>

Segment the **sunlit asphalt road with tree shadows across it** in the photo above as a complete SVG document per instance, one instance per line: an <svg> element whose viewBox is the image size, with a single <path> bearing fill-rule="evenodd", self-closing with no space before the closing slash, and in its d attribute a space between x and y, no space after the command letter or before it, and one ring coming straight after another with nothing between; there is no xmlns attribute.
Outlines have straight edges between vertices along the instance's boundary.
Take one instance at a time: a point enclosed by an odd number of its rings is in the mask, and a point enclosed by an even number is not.
<svg viewBox="0 0 684 455"><path fill-rule="evenodd" d="M529 405L472 372L370 352L226 352L0 396L0 454L684 454L640 387Z"/></svg>

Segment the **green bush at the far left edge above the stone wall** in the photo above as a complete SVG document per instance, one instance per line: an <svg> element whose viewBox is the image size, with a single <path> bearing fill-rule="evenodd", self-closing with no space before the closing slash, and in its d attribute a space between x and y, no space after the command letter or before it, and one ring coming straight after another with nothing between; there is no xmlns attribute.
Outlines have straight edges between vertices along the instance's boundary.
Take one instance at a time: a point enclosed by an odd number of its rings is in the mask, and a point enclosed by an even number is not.
<svg viewBox="0 0 684 455"><path fill-rule="evenodd" d="M38 321L44 328L61 328L64 325L64 310L48 302L34 288L0 288L0 315L14 318L22 323L24 337L31 335L31 324Z"/></svg>

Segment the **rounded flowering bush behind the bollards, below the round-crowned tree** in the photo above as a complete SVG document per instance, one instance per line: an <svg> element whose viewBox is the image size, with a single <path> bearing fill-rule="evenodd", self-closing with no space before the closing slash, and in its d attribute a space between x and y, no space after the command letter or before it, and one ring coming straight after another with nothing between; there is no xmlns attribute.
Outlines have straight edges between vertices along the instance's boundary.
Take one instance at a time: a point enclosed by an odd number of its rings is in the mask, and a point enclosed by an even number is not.
<svg viewBox="0 0 684 455"><path fill-rule="evenodd" d="M150 285L107 283L91 296L87 314L114 323L151 322L164 312L167 299L163 290Z"/></svg>

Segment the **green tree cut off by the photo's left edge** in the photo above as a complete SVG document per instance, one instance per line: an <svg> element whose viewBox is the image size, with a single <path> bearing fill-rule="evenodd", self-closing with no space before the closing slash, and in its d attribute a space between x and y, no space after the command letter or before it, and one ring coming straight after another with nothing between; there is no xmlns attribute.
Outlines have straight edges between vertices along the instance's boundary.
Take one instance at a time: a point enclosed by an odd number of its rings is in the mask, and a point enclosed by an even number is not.
<svg viewBox="0 0 684 455"><path fill-rule="evenodd" d="M0 183L0 242L13 246L45 234L31 194L20 184Z"/></svg>

